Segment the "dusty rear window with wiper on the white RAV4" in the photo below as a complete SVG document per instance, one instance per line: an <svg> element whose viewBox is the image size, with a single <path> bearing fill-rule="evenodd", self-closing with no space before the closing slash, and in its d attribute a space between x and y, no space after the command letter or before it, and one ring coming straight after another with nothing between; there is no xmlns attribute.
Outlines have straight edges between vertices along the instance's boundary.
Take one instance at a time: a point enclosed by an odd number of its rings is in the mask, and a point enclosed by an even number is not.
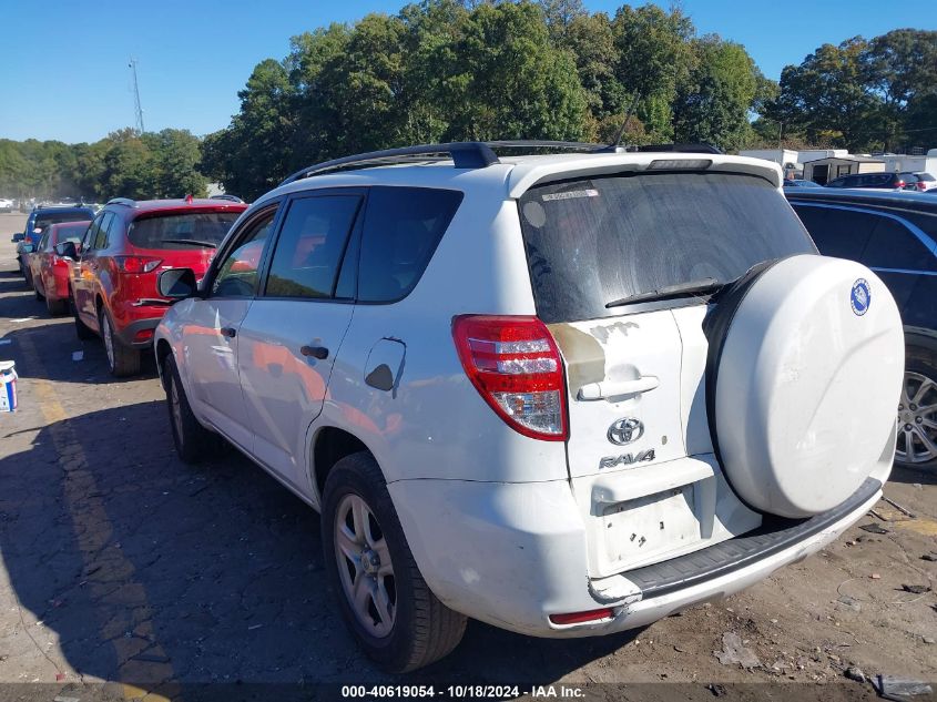
<svg viewBox="0 0 937 702"><path fill-rule="evenodd" d="M703 278L729 283L763 261L816 253L784 196L751 175L566 181L531 189L519 207L537 313L547 323L621 315L648 305L605 304Z"/></svg>

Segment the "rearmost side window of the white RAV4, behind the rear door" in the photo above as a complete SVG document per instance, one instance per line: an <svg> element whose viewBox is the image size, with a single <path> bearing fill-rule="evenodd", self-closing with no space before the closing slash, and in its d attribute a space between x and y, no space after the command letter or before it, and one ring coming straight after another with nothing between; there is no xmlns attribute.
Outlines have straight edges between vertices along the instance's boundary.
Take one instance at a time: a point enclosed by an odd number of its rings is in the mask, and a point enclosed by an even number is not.
<svg viewBox="0 0 937 702"><path fill-rule="evenodd" d="M428 187L374 187L368 196L358 268L358 299L403 299L419 282L462 193Z"/></svg>

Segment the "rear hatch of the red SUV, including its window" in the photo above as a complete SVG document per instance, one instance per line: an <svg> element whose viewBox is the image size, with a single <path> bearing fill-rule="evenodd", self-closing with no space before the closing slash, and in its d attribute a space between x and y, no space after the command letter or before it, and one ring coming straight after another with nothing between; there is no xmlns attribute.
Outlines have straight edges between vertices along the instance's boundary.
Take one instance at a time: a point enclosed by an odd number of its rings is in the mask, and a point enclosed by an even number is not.
<svg viewBox="0 0 937 702"><path fill-rule="evenodd" d="M201 279L231 225L244 207L169 210L143 213L131 222L128 240L132 255L116 256L128 294L160 298L159 274L167 268L192 268Z"/></svg>

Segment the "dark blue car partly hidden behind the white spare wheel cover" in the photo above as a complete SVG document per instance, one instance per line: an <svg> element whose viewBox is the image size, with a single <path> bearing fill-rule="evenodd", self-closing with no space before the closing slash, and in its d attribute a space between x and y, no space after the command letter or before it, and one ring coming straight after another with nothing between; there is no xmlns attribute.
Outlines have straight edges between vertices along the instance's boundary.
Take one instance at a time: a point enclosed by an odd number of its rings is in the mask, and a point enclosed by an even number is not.
<svg viewBox="0 0 937 702"><path fill-rule="evenodd" d="M905 329L895 460L937 467L937 199L914 193L788 192L819 252L882 277Z"/></svg>

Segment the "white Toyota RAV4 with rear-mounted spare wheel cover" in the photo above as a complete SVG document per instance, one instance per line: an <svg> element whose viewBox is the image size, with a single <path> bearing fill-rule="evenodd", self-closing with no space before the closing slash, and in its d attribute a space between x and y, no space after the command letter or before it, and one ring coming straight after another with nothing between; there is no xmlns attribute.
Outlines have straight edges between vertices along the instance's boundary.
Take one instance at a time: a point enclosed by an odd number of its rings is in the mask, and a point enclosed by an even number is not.
<svg viewBox="0 0 937 702"><path fill-rule="evenodd" d="M583 637L735 592L892 466L898 311L817 255L776 164L513 145L309 167L197 286L160 282L179 454L221 435L322 512L340 609L391 671L467 617Z"/></svg>

